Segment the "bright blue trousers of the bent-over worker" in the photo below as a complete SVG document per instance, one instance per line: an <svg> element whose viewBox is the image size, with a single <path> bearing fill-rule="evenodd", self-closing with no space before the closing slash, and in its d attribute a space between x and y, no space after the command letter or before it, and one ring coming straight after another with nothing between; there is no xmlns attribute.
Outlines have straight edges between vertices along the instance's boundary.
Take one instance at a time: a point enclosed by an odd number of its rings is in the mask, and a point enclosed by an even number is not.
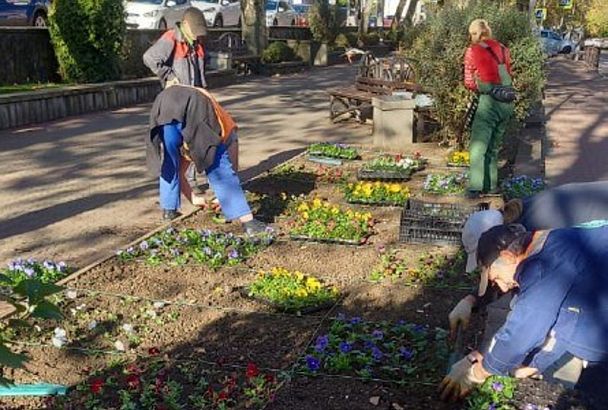
<svg viewBox="0 0 608 410"><path fill-rule="evenodd" d="M180 147L183 143L181 124L178 122L165 124L162 127L161 137L164 157L159 179L160 207L165 210L177 210L181 205L179 181ZM218 146L213 164L205 170L205 173L226 219L238 219L251 213L239 177L232 168L226 145Z"/></svg>

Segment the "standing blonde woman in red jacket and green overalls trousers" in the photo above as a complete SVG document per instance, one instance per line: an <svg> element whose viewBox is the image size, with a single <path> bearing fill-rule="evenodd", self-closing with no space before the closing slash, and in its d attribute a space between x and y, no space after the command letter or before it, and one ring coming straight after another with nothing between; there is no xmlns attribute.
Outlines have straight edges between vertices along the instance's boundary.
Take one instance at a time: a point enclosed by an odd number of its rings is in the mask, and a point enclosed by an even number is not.
<svg viewBox="0 0 608 410"><path fill-rule="evenodd" d="M469 197L497 193L498 149L513 115L514 94L501 96L497 89L511 90L509 49L492 39L485 20L469 26L471 46L464 56L464 84L478 93L479 103L471 126ZM508 101L511 99L511 101Z"/></svg>

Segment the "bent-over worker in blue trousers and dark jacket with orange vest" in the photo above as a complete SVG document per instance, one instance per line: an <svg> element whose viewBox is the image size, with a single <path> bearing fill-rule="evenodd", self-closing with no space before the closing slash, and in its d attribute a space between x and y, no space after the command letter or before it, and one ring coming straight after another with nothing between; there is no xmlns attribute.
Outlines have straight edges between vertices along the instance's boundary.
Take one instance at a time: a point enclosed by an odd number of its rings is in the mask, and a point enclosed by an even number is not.
<svg viewBox="0 0 608 410"><path fill-rule="evenodd" d="M226 219L239 220L248 234L266 230L264 223L253 218L234 169L238 166L236 130L232 117L202 88L174 85L156 97L146 159L154 175L160 175L163 219L178 215L180 192L194 205L205 204L186 182L186 170L193 162L207 174Z"/></svg>

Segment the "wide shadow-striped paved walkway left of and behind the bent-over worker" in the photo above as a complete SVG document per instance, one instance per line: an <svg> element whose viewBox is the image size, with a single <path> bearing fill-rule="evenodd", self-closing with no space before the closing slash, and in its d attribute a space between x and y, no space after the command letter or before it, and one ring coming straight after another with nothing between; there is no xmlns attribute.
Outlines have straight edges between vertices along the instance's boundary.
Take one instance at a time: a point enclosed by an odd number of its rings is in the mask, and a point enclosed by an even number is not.
<svg viewBox="0 0 608 410"><path fill-rule="evenodd" d="M245 174L313 141L369 142L368 127L328 120L325 90L354 75L334 66L215 90L241 126ZM160 225L157 183L144 163L148 110L0 132L0 263L32 256L81 267Z"/></svg>

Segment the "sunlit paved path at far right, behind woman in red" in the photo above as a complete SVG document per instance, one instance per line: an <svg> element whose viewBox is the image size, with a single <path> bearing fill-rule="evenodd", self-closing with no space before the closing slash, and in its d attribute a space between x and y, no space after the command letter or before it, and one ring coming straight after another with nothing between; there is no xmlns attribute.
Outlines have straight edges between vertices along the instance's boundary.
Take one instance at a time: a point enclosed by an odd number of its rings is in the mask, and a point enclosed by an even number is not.
<svg viewBox="0 0 608 410"><path fill-rule="evenodd" d="M608 179L608 79L582 62L553 59L545 114L549 184Z"/></svg>

